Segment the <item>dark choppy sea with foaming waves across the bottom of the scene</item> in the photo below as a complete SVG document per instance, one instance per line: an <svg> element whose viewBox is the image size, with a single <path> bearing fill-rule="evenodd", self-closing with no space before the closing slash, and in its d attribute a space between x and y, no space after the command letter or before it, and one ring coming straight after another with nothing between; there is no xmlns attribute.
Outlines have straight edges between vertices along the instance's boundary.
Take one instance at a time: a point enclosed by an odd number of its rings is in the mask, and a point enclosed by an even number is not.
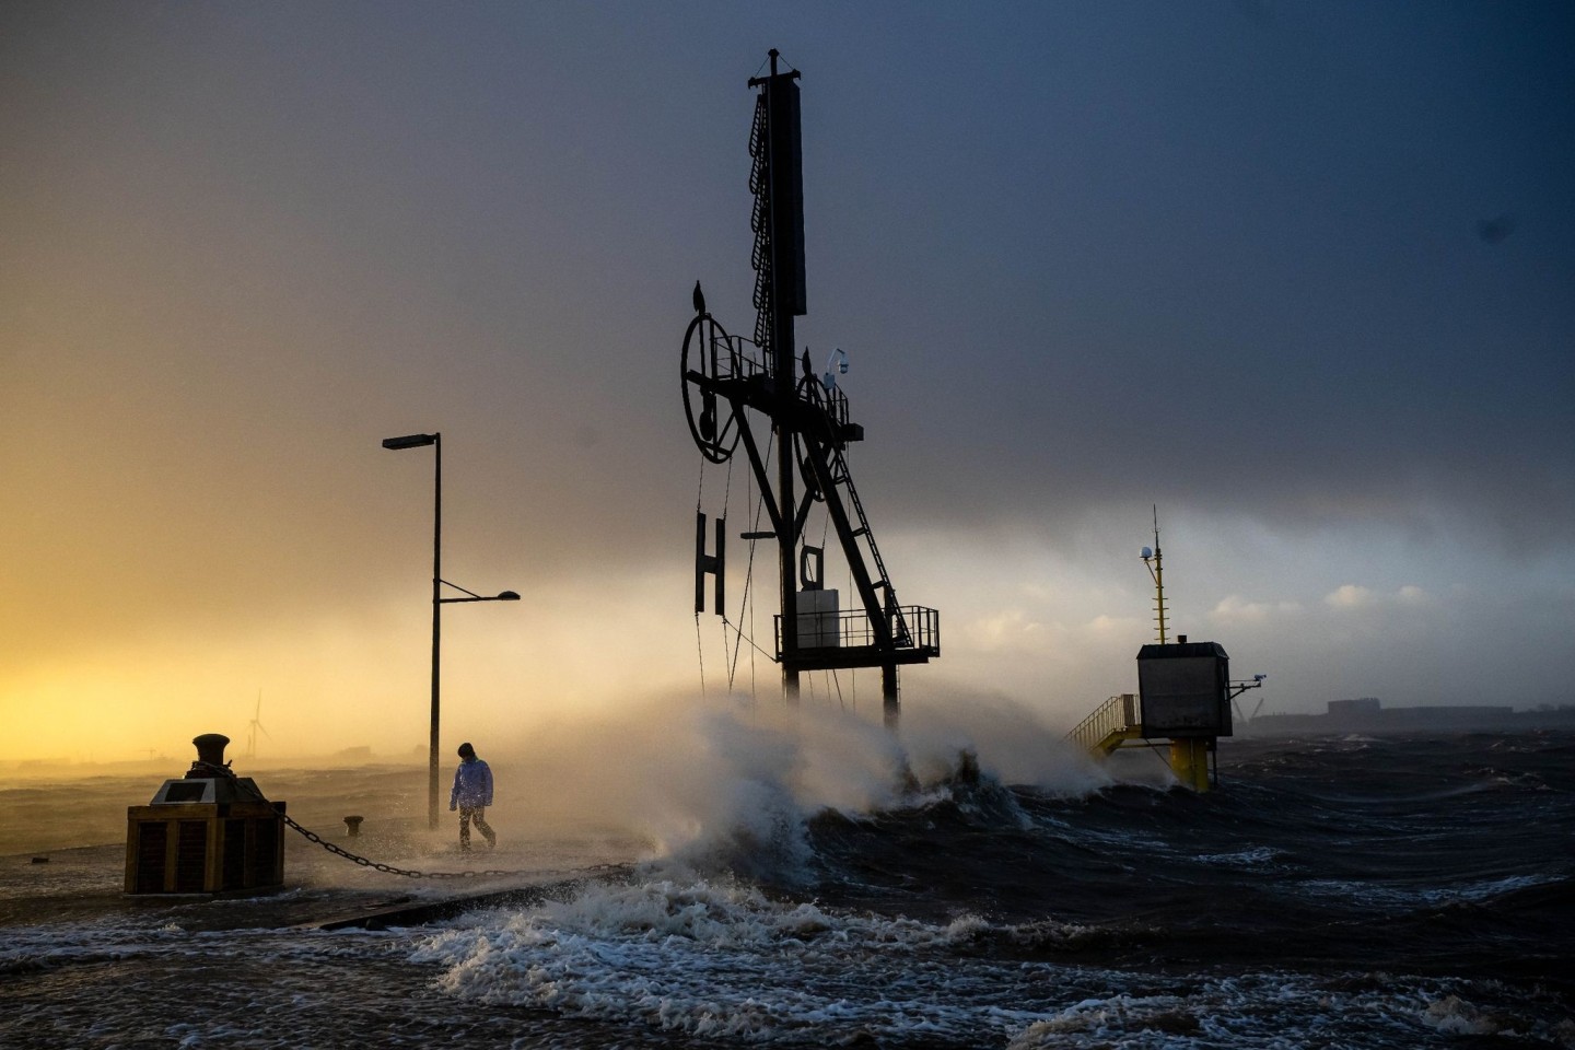
<svg viewBox="0 0 1575 1050"><path fill-rule="evenodd" d="M561 836L528 904L389 930L28 918L94 875L6 856L0 1045L1575 1047L1575 735L1227 740L1205 795L921 765L866 806L740 767L704 819ZM280 907L397 882L326 861Z"/></svg>

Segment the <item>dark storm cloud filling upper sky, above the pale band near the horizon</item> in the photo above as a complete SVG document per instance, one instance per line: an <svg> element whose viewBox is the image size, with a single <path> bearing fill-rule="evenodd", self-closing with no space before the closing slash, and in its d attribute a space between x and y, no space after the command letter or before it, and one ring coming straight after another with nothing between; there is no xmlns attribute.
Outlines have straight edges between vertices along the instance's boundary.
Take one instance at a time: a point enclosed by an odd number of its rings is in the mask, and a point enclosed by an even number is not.
<svg viewBox="0 0 1575 1050"><path fill-rule="evenodd" d="M1159 501L1539 548L1575 510L1569 6L0 19L35 464L3 527L69 551L33 601L76 567L161 609L364 600L419 560L425 466L376 447L417 430L466 581L682 560L679 338L696 279L753 327L770 46L803 71L800 342L849 351L898 521Z"/></svg>

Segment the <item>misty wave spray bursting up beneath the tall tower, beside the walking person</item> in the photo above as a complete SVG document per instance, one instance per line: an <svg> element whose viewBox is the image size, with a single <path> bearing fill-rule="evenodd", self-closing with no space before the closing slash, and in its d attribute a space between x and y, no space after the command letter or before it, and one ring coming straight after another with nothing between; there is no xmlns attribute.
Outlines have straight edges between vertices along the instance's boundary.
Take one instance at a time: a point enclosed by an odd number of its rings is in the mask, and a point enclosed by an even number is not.
<svg viewBox="0 0 1575 1050"><path fill-rule="evenodd" d="M951 790L947 781L965 760L980 763L988 784L1080 793L1110 782L1060 734L999 704L970 708L967 730L926 712L896 737L835 708L811 718L737 699L671 697L619 723L542 730L531 754L515 763L502 749L496 767L512 768L510 790L543 826L616 822L649 844L650 858L776 885L806 880L806 822L827 809L860 819L954 800L965 811L989 804L1027 828L1010 792Z"/></svg>

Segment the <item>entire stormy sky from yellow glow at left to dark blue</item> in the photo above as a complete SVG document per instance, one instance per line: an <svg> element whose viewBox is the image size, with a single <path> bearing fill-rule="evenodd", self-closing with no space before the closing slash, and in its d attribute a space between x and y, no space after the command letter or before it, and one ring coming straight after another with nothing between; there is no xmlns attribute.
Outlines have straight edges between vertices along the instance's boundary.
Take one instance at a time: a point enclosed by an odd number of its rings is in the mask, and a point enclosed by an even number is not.
<svg viewBox="0 0 1575 1050"><path fill-rule="evenodd" d="M797 337L942 614L906 704L1134 691L1156 504L1265 712L1575 699L1567 3L13 2L0 760L258 697L276 752L424 746L414 431L444 576L523 595L446 609L454 734L726 691L679 346L696 279L754 323L770 47Z"/></svg>

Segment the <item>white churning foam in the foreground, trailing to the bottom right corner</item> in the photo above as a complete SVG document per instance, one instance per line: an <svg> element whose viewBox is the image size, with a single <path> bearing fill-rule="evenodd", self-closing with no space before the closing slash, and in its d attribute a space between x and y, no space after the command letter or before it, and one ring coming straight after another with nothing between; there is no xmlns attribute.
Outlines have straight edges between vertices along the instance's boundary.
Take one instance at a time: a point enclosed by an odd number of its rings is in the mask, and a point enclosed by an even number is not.
<svg viewBox="0 0 1575 1050"><path fill-rule="evenodd" d="M926 1036L1011 1050L1269 1050L1315 1045L1336 1030L1395 1047L1429 1028L1515 1031L1425 979L1164 978L1006 962L981 951L997 935L1027 938L980 916L929 924L780 902L736 883L652 880L457 919L413 960L438 965L438 987L466 1001L723 1045ZM1077 927L1065 935L1076 940Z"/></svg>

